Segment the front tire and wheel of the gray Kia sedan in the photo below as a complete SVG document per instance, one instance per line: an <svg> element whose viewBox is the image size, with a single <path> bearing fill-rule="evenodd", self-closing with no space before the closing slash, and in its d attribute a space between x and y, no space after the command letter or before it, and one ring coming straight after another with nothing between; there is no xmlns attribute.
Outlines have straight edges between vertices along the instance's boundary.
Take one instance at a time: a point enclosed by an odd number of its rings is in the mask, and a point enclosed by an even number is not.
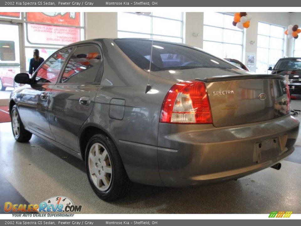
<svg viewBox="0 0 301 226"><path fill-rule="evenodd" d="M32 133L24 128L16 105L12 108L11 120L15 140L21 143L28 142L31 139Z"/></svg>

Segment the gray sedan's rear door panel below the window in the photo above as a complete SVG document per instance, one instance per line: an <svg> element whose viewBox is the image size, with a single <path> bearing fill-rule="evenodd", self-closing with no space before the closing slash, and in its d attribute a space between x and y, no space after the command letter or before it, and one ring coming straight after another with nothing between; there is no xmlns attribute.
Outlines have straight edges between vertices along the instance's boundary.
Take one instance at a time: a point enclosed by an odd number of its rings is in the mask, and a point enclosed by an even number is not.
<svg viewBox="0 0 301 226"><path fill-rule="evenodd" d="M82 124L92 112L98 85L56 84L50 93L50 128L55 140L79 152L77 136ZM86 105L80 99L90 99Z"/></svg>

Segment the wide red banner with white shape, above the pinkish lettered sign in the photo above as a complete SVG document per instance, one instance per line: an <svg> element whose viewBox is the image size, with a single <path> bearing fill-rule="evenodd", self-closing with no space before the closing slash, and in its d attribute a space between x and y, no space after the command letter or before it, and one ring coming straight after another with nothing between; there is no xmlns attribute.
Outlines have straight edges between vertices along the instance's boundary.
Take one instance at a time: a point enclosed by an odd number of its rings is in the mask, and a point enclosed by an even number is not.
<svg viewBox="0 0 301 226"><path fill-rule="evenodd" d="M26 13L27 21L49 23L49 24L63 24L80 26L80 13L66 13L66 12L53 12L53 13Z"/></svg>

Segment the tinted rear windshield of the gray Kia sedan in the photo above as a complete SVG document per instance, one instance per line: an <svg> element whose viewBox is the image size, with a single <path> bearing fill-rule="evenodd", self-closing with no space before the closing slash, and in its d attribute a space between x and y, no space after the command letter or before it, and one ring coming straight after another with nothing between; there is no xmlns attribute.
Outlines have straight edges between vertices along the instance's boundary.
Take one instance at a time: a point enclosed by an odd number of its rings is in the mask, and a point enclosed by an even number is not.
<svg viewBox="0 0 301 226"><path fill-rule="evenodd" d="M150 67L151 40L117 39L116 44L140 68ZM235 68L198 49L160 41L153 42L151 71L185 68Z"/></svg>

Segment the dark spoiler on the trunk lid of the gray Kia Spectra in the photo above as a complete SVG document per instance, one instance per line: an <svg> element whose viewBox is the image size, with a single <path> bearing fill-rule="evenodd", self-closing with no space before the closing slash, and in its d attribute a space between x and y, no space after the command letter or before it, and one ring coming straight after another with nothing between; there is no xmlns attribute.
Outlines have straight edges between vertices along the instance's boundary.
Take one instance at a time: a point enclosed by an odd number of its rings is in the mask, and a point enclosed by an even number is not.
<svg viewBox="0 0 301 226"><path fill-rule="evenodd" d="M220 81L231 81L231 80L244 80L244 79L277 79L285 80L285 77L282 75L274 74L245 74L245 75L221 75L213 76L209 78L196 78L195 80L202 82L220 82Z"/></svg>

